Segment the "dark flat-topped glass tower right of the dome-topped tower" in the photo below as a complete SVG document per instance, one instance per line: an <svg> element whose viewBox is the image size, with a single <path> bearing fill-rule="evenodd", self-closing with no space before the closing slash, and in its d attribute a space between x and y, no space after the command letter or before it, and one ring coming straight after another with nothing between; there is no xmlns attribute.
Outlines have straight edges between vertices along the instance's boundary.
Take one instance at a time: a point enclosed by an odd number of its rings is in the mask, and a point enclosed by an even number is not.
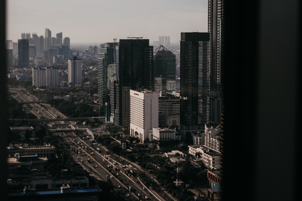
<svg viewBox="0 0 302 201"><path fill-rule="evenodd" d="M182 134L204 130L209 122L210 33L181 33L180 66Z"/></svg>

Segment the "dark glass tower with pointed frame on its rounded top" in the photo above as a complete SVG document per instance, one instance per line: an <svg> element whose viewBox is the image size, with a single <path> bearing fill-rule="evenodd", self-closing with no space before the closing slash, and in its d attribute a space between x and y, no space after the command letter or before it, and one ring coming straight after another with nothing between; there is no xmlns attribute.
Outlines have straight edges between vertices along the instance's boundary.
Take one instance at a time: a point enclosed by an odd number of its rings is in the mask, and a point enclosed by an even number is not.
<svg viewBox="0 0 302 201"><path fill-rule="evenodd" d="M159 46L154 52L156 52L156 55L154 56L154 77L162 78L162 89L160 90L172 94L173 91L175 92L176 90L176 55L164 46ZM160 90L157 89L155 92L159 93Z"/></svg>

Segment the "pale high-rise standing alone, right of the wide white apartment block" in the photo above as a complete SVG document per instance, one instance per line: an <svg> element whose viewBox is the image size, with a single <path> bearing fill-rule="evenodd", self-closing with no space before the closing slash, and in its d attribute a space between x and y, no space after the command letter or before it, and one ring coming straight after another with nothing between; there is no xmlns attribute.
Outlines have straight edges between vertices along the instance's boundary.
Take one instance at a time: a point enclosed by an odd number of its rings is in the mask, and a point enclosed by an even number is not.
<svg viewBox="0 0 302 201"><path fill-rule="evenodd" d="M68 60L68 83L82 84L82 59L72 57Z"/></svg>

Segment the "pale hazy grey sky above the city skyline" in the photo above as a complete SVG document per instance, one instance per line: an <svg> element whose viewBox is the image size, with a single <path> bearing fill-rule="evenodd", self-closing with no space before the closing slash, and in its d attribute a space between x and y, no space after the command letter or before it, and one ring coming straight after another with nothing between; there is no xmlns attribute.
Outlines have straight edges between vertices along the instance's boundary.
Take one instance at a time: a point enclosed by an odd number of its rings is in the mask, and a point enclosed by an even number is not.
<svg viewBox="0 0 302 201"><path fill-rule="evenodd" d="M7 0L6 39L21 33L62 32L70 43L104 43L159 36L179 42L181 32L207 32L207 0Z"/></svg>

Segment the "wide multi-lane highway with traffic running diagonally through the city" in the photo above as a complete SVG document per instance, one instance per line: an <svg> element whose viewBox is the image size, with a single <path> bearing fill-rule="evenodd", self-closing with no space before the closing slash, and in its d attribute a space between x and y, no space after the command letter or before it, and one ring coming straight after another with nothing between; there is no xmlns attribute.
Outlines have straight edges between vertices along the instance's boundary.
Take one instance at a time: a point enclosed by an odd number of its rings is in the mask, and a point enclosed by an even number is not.
<svg viewBox="0 0 302 201"><path fill-rule="evenodd" d="M12 96L19 102L39 101L35 96L29 94L22 88L9 88L9 92L11 92ZM30 109L31 113L36 115L38 119L52 119L53 124L61 125L58 129L62 129L62 132L56 131L55 134L60 135L64 141L70 144L70 150L76 150L75 152L70 151L71 157L93 177L102 181L111 179L112 184L117 189L124 191L126 196L133 197L134 199L165 200L159 197L157 193L152 193L147 189L147 187L140 182L139 178L133 178L130 174L128 175L120 169L120 165L132 166L133 164L117 156L106 155L106 148L89 140L83 132L75 134L75 132L70 131L67 133L66 130L63 130L68 128L63 125L76 123L68 121L69 119L56 110L56 108L43 103L29 103L27 109ZM133 167L133 169L135 170L135 167Z"/></svg>

